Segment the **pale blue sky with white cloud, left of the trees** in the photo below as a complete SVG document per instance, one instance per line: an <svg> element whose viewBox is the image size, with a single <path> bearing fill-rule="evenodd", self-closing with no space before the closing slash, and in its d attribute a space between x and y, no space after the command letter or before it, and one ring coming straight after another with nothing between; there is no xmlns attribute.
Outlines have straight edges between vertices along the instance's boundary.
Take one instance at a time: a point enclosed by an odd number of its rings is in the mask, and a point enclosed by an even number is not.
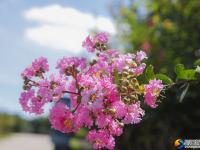
<svg viewBox="0 0 200 150"><path fill-rule="evenodd" d="M20 73L33 59L45 56L53 67L56 60L63 56L84 55L79 48L81 43L76 42L82 40L93 27L115 34L108 9L111 2L1 0L0 111L25 115L18 104L22 89ZM71 13L74 18L69 17ZM74 27L75 23L77 26Z"/></svg>

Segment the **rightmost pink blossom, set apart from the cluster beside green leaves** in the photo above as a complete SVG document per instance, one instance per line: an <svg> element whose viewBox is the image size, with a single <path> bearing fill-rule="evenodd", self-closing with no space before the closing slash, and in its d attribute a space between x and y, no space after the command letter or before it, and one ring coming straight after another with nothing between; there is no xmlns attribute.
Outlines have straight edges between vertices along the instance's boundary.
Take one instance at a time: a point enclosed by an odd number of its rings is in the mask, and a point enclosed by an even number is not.
<svg viewBox="0 0 200 150"><path fill-rule="evenodd" d="M164 88L161 80L150 80L149 84L144 86L144 102L152 108L156 108L156 98L160 95L160 92Z"/></svg>

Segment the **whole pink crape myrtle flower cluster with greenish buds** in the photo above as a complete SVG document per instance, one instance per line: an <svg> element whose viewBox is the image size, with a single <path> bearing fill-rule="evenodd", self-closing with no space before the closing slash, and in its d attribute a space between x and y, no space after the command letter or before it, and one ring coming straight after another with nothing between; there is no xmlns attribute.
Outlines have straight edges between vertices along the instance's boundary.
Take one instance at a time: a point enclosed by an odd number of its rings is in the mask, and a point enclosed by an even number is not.
<svg viewBox="0 0 200 150"><path fill-rule="evenodd" d="M85 58L64 57L56 66L59 73L49 77L47 60L36 59L22 72L23 110L41 114L46 103L55 102L49 116L54 129L69 133L87 127L87 140L94 149L114 149L114 137L123 133L124 125L142 120L142 103L157 107L164 85L157 79L140 83L147 59L143 51L122 54L108 49L107 42L106 33L88 36L83 47L96 53L96 58L88 63ZM65 94L69 94L70 106L59 102Z"/></svg>

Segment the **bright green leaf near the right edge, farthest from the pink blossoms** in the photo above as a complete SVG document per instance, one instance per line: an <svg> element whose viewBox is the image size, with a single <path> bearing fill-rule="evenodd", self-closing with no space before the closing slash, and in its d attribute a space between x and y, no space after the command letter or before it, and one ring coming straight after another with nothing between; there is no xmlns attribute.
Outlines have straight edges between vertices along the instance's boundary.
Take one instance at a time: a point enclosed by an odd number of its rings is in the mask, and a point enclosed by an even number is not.
<svg viewBox="0 0 200 150"><path fill-rule="evenodd" d="M178 79L196 80L196 71L194 69L185 69L182 64L176 65L175 73Z"/></svg>

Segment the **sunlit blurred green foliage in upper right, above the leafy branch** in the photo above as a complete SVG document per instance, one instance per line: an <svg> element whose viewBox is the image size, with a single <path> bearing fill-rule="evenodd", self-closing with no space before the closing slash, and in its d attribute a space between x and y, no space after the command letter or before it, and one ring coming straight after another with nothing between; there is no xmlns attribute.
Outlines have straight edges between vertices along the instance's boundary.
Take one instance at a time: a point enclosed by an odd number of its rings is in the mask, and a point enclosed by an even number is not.
<svg viewBox="0 0 200 150"><path fill-rule="evenodd" d="M141 4L142 2L140 2ZM177 63L193 65L200 39L199 0L144 0L146 14L136 3L119 6L116 19L127 51L144 49L149 62L161 73L173 74ZM124 25L125 24L125 25Z"/></svg>

